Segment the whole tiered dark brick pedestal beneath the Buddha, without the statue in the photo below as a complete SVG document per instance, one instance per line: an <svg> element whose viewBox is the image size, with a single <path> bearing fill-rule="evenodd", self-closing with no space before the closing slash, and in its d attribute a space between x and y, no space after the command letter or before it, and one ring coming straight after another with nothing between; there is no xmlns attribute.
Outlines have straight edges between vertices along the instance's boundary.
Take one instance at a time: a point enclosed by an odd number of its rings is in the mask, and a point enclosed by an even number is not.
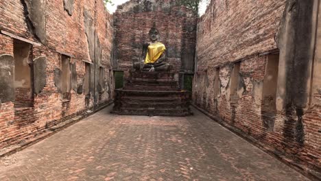
<svg viewBox="0 0 321 181"><path fill-rule="evenodd" d="M112 113L185 117L191 115L191 93L181 91L175 73L130 72L124 88L115 90Z"/></svg>

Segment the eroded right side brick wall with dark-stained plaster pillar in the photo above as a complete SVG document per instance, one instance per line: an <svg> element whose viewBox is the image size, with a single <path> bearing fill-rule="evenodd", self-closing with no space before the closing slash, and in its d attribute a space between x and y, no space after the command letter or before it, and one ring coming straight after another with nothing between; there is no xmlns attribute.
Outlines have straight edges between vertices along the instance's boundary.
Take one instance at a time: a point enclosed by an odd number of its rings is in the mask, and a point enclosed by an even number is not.
<svg viewBox="0 0 321 181"><path fill-rule="evenodd" d="M293 3L211 1L198 23L193 102L281 158L320 171L318 59L311 69L313 48L307 46L313 45L316 5ZM263 96L269 89L268 62L278 56L278 90L276 98L268 99ZM231 95L236 64L240 66L237 93ZM265 106L268 101L272 106Z"/></svg>

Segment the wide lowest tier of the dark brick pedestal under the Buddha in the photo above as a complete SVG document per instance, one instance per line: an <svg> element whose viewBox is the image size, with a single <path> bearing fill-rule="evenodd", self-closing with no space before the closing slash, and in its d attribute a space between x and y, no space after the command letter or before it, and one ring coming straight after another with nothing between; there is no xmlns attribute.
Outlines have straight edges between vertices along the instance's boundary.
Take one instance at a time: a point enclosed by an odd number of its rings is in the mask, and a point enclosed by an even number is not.
<svg viewBox="0 0 321 181"><path fill-rule="evenodd" d="M135 87L137 88L137 87ZM112 113L124 115L185 117L191 115L191 93L188 91L115 90L115 106ZM149 87L150 88L150 87ZM163 90L163 91L160 91Z"/></svg>

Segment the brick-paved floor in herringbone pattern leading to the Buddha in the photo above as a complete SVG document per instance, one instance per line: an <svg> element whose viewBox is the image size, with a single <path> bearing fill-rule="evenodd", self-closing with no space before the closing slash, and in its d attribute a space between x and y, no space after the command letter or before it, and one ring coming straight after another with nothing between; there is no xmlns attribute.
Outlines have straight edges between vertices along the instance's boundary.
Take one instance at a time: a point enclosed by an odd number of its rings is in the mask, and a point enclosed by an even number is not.
<svg viewBox="0 0 321 181"><path fill-rule="evenodd" d="M197 110L187 118L102 110L0 160L0 180L307 180Z"/></svg>

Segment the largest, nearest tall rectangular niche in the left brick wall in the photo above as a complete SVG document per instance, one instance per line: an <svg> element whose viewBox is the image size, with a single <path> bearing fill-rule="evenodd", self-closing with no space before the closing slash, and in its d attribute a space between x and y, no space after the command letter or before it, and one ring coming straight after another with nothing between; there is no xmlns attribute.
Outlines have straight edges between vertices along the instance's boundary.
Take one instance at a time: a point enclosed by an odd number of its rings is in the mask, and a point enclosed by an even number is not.
<svg viewBox="0 0 321 181"><path fill-rule="evenodd" d="M32 45L14 39L15 107L34 106Z"/></svg>

